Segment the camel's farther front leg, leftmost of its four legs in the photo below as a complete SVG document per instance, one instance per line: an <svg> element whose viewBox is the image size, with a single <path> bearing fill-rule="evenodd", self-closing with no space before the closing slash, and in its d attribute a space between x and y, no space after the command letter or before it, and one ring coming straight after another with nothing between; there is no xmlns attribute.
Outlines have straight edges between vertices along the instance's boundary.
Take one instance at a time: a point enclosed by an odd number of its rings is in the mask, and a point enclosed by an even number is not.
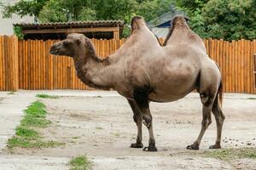
<svg viewBox="0 0 256 170"><path fill-rule="evenodd" d="M131 106L131 110L133 111L133 120L134 120L134 122L137 123L137 139L136 139L136 143L131 144L131 148L143 148L142 115L141 115L135 101L128 99L128 103Z"/></svg>

